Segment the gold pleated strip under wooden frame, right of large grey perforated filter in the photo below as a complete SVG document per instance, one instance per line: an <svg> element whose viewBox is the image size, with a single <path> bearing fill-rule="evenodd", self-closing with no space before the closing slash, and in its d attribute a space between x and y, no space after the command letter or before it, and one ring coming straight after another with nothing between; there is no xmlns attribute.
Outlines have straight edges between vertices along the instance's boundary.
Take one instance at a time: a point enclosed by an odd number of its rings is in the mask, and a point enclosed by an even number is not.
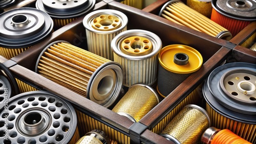
<svg viewBox="0 0 256 144"><path fill-rule="evenodd" d="M112 143L123 143L130 144L130 137L115 130L114 128L105 125L91 116L79 111L76 109L77 115L77 124L80 135L85 135L86 133L97 129L104 131L110 139L112 139Z"/></svg>

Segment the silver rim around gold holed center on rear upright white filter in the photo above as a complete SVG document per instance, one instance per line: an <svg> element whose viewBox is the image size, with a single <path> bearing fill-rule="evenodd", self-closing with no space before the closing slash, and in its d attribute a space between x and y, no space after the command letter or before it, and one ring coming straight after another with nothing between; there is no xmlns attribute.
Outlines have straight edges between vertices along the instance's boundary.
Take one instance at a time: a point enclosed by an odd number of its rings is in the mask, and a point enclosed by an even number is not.
<svg viewBox="0 0 256 144"><path fill-rule="evenodd" d="M92 27L91 23L92 21L99 17L100 15L113 15L116 16L117 18L119 18L119 20L121 20L120 25L118 28L116 29L110 29L109 31L102 31L102 30L97 30L95 28ZM84 28L86 28L88 31L97 33L97 34L112 34L112 33L116 33L119 32L120 30L124 29L127 26L128 23L128 18L127 16L117 10L111 10L111 9L104 9L104 10L97 10L97 11L93 11L89 14L87 14L84 18L83 18L83 26Z"/></svg>

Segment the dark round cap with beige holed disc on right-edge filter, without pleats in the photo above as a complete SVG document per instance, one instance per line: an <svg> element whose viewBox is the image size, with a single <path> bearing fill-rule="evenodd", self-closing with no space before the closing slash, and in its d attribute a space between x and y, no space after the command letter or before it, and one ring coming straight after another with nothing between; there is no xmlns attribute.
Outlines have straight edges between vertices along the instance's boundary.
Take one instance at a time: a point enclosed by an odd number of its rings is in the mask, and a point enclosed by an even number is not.
<svg viewBox="0 0 256 144"><path fill-rule="evenodd" d="M203 87L206 102L239 122L256 124L256 65L228 63L211 72Z"/></svg>

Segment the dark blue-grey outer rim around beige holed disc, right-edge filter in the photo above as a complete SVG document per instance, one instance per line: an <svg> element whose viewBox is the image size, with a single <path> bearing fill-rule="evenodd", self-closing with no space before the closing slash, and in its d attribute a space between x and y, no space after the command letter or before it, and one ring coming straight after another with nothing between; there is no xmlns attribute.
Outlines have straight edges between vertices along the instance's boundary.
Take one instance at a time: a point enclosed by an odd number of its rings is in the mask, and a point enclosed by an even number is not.
<svg viewBox="0 0 256 144"><path fill-rule="evenodd" d="M256 107L253 105L245 105L243 103L238 103L234 100L229 99L220 103L216 97L223 97L225 94L219 85L221 76L229 70L242 68L244 70L255 71L255 64L245 63L245 62L236 62L228 63L214 69L207 81L203 86L203 95L208 105L218 113L230 118L236 119L238 122L246 122L249 124L256 124ZM216 84L218 84L216 86ZM214 89L213 89L214 88ZM222 100L223 101L223 100ZM224 105L225 104L225 105ZM239 104L239 105L238 105ZM236 109L234 109L236 107ZM239 109L244 109L239 111Z"/></svg>

